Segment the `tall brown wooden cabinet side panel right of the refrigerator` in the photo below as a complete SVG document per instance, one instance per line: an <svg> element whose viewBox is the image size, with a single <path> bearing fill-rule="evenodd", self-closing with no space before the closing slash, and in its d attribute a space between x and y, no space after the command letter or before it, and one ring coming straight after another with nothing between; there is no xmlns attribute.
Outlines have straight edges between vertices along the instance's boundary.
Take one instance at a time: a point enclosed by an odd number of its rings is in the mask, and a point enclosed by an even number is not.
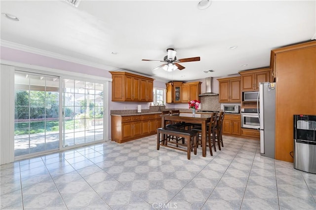
<svg viewBox="0 0 316 210"><path fill-rule="evenodd" d="M316 40L272 50L276 159L293 162L293 115L316 115Z"/></svg>

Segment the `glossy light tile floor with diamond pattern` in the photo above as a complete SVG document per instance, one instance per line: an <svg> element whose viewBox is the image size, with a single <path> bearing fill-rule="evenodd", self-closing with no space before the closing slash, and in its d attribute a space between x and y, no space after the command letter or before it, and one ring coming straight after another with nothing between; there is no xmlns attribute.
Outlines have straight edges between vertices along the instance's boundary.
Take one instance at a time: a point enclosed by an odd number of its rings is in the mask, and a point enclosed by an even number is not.
<svg viewBox="0 0 316 210"><path fill-rule="evenodd" d="M0 209L316 209L316 175L260 156L256 140L224 136L201 156L165 147L156 135L0 166Z"/></svg>

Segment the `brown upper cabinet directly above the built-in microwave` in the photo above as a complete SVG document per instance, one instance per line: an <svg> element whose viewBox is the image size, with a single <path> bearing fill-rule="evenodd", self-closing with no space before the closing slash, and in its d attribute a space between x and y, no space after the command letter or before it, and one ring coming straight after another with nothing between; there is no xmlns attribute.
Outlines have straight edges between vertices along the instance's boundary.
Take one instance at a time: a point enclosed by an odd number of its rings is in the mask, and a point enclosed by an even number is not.
<svg viewBox="0 0 316 210"><path fill-rule="evenodd" d="M241 75L241 91L259 90L260 82L270 82L271 69L239 71Z"/></svg>

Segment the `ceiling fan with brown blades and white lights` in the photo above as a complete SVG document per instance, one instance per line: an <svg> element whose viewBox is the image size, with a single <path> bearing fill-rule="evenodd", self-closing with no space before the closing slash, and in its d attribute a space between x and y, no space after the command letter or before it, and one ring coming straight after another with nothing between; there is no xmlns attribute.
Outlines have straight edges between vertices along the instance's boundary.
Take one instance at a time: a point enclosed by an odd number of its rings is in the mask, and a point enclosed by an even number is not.
<svg viewBox="0 0 316 210"><path fill-rule="evenodd" d="M158 62L164 62L165 64L161 64L158 67L154 68L154 70L157 70L159 68L163 68L163 70L166 71L173 71L176 69L183 70L185 69L184 66L180 65L179 63L184 63L184 62L192 62L192 61L199 61L199 57L193 57L193 58L181 58L177 59L176 53L172 48L167 49L168 55L164 56L163 61L161 60L148 60L148 59L143 59L142 61L158 61Z"/></svg>

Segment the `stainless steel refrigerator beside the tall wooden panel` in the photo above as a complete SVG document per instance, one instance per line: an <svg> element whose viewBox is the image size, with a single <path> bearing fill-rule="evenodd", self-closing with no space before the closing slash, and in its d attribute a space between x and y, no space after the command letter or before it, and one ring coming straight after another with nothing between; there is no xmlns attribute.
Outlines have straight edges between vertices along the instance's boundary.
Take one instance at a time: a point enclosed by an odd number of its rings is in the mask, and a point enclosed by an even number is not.
<svg viewBox="0 0 316 210"><path fill-rule="evenodd" d="M262 156L275 158L276 83L263 82L259 86L257 108L260 107L260 153Z"/></svg>

